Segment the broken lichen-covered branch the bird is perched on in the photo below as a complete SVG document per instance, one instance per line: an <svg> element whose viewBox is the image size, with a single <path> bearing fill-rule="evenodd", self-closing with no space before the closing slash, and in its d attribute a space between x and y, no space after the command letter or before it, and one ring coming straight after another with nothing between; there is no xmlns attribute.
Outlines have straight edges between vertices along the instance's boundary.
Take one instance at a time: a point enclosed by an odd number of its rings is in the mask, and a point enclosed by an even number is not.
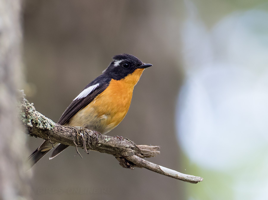
<svg viewBox="0 0 268 200"><path fill-rule="evenodd" d="M24 96L24 94L23 94ZM151 163L143 158L154 157L160 154L160 146L136 145L129 139L119 136L101 135L96 131L82 127L68 127L56 124L35 110L24 97L20 103L20 118L27 127L30 136L43 138L51 143L61 143L79 148L111 154L119 161L124 168L134 167L147 168L158 174L163 174L175 179L190 183L203 181L202 177L182 174L175 170ZM81 156L81 154L79 153ZM82 156L81 156L82 157Z"/></svg>

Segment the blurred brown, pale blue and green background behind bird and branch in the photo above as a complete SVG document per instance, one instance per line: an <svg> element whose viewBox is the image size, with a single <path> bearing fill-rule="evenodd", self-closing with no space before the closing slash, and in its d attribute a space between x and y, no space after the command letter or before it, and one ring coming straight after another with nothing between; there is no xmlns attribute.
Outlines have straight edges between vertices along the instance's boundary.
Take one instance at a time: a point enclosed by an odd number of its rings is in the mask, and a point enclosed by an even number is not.
<svg viewBox="0 0 268 200"><path fill-rule="evenodd" d="M264 0L25 0L23 88L39 112L57 122L113 55L133 54L153 67L108 135L161 145L149 161L204 178L70 147L28 172L33 199L267 199L267 21Z"/></svg>

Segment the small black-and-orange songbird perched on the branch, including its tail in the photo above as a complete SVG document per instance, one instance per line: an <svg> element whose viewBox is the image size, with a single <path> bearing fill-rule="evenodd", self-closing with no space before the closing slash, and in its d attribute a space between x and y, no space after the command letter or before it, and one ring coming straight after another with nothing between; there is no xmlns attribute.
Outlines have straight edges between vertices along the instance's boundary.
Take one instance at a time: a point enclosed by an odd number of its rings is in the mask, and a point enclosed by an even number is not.
<svg viewBox="0 0 268 200"><path fill-rule="evenodd" d="M129 109L134 86L138 83L145 68L144 64L130 54L113 56L113 61L94 81L88 84L74 98L60 117L58 124L81 126L101 134L113 130L126 116ZM57 146L58 145L58 146ZM60 154L68 145L51 144L45 140L27 159L34 166L52 148L49 159Z"/></svg>

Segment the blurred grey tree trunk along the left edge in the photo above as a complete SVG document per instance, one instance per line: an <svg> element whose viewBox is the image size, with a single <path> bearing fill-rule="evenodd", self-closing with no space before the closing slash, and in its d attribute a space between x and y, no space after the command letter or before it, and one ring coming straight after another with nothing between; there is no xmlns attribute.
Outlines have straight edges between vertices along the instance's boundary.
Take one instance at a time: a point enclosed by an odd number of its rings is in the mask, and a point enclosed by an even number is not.
<svg viewBox="0 0 268 200"><path fill-rule="evenodd" d="M29 199L22 168L26 137L19 130L17 88L21 86L20 0L0 1L0 199Z"/></svg>

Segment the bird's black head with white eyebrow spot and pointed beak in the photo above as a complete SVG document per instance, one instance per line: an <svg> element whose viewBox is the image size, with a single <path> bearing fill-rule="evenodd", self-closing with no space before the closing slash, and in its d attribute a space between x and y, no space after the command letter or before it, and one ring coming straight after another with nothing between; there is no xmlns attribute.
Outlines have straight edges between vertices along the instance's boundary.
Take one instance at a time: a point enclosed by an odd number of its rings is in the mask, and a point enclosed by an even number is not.
<svg viewBox="0 0 268 200"><path fill-rule="evenodd" d="M107 74L115 80L120 80L133 73L136 69L144 69L150 66L152 64L144 64L137 57L124 53L113 56L113 62L103 71L103 74Z"/></svg>

